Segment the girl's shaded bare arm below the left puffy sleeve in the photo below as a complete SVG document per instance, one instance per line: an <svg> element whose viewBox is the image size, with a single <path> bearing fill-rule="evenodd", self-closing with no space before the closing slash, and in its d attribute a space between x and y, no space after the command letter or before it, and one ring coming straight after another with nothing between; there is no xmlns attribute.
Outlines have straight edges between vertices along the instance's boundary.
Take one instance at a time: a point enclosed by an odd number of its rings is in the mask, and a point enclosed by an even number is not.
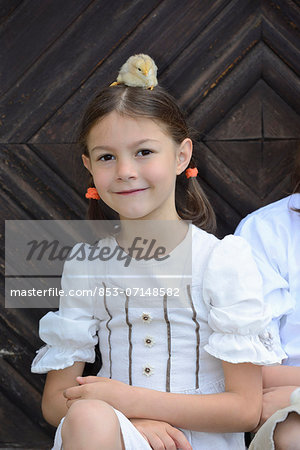
<svg viewBox="0 0 300 450"><path fill-rule="evenodd" d="M82 375L84 365L84 362L75 362L71 367L48 372L42 398L42 412L45 420L51 425L57 427L66 415L68 408L63 392L71 386L78 386L76 377Z"/></svg>

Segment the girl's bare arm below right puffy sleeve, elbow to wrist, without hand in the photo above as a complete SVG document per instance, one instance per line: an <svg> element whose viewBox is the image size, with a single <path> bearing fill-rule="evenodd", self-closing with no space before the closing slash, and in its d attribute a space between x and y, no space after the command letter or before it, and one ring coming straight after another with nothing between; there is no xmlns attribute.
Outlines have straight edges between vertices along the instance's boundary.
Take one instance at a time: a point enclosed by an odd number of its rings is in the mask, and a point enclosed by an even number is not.
<svg viewBox="0 0 300 450"><path fill-rule="evenodd" d="M225 392L220 394L186 395L136 388L133 414L196 431L251 431L261 413L261 367L223 362L223 370Z"/></svg>

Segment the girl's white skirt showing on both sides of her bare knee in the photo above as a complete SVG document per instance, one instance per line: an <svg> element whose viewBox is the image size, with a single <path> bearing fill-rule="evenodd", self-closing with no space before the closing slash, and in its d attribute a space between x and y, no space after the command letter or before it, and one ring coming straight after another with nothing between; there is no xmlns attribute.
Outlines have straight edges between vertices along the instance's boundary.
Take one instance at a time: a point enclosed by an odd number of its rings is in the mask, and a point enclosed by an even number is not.
<svg viewBox="0 0 300 450"><path fill-rule="evenodd" d="M135 428L135 426L124 416L123 413L114 408L114 411L119 419L121 433L123 435L123 440L126 450L151 450L152 447L148 444L146 439L141 435L141 433ZM60 421L57 427L54 444L52 450L62 450L62 439L61 439L61 427L64 421L64 417Z"/></svg>

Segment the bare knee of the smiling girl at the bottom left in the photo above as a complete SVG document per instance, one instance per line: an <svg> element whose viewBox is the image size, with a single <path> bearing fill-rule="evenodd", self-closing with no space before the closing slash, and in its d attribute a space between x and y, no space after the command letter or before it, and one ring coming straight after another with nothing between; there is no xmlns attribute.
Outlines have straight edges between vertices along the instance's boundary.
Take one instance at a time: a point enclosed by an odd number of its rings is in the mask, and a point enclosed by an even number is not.
<svg viewBox="0 0 300 450"><path fill-rule="evenodd" d="M78 400L62 425L63 450L124 450L114 409L101 400Z"/></svg>

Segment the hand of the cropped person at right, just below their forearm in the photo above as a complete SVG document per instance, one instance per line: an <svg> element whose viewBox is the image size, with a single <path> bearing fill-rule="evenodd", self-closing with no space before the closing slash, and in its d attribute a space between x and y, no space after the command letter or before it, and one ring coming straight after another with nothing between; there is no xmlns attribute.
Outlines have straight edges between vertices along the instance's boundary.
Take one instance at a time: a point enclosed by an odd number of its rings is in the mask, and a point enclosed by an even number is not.
<svg viewBox="0 0 300 450"><path fill-rule="evenodd" d="M269 419L276 411L290 405L291 393L299 386L278 386L263 390L263 408L258 427L255 432Z"/></svg>

